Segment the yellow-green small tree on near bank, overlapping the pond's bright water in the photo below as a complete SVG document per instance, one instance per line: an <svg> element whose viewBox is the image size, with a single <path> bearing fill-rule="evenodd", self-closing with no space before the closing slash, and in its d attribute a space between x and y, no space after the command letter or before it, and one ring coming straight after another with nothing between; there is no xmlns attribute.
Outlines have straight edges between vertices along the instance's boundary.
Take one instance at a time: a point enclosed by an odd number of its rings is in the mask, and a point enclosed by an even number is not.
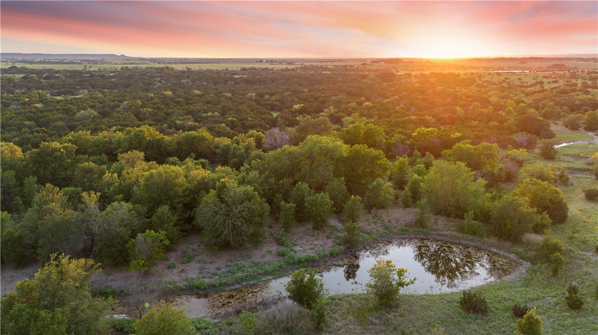
<svg viewBox="0 0 598 335"><path fill-rule="evenodd" d="M365 286L377 304L385 308L395 305L401 289L416 281L416 278L407 280L407 269L397 268L390 259L377 259L368 274L370 281Z"/></svg>

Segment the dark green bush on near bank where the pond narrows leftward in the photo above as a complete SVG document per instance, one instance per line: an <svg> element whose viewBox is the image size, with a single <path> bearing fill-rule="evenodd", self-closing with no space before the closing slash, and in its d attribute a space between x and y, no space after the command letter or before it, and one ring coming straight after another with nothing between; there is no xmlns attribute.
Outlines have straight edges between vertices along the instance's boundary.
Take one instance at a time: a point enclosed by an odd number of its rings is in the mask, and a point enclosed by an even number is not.
<svg viewBox="0 0 598 335"><path fill-rule="evenodd" d="M291 275L291 280L286 284L285 290L289 293L289 299L312 309L313 305L324 296L324 281L316 278L316 269L298 269Z"/></svg>

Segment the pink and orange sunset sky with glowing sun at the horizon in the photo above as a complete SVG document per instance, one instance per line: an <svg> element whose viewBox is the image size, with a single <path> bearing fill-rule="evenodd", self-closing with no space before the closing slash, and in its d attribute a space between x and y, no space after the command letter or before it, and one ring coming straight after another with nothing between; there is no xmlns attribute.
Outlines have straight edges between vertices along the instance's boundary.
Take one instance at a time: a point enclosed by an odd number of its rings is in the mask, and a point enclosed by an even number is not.
<svg viewBox="0 0 598 335"><path fill-rule="evenodd" d="M2 52L133 57L598 54L598 1L9 1Z"/></svg>

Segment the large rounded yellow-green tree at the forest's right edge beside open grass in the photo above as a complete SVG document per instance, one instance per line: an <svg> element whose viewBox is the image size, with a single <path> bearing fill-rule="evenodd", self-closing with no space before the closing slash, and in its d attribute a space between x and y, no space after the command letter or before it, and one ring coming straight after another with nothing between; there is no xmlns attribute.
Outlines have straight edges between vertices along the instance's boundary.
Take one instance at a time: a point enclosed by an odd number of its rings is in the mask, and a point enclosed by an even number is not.
<svg viewBox="0 0 598 335"><path fill-rule="evenodd" d="M567 201L559 188L551 185L550 182L539 179L523 179L512 196L526 199L527 204L536 210L537 213L546 212L550 219L557 224L566 221L569 212Z"/></svg>

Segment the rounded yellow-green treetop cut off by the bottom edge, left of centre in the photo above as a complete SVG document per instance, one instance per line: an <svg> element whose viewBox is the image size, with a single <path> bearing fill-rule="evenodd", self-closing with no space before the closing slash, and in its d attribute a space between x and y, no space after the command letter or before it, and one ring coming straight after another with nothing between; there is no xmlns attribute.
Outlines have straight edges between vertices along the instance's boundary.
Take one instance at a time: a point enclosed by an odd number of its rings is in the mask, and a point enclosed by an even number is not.
<svg viewBox="0 0 598 335"><path fill-rule="evenodd" d="M170 305L150 309L135 324L137 335L191 335L195 334L193 322L187 318L185 309Z"/></svg>

